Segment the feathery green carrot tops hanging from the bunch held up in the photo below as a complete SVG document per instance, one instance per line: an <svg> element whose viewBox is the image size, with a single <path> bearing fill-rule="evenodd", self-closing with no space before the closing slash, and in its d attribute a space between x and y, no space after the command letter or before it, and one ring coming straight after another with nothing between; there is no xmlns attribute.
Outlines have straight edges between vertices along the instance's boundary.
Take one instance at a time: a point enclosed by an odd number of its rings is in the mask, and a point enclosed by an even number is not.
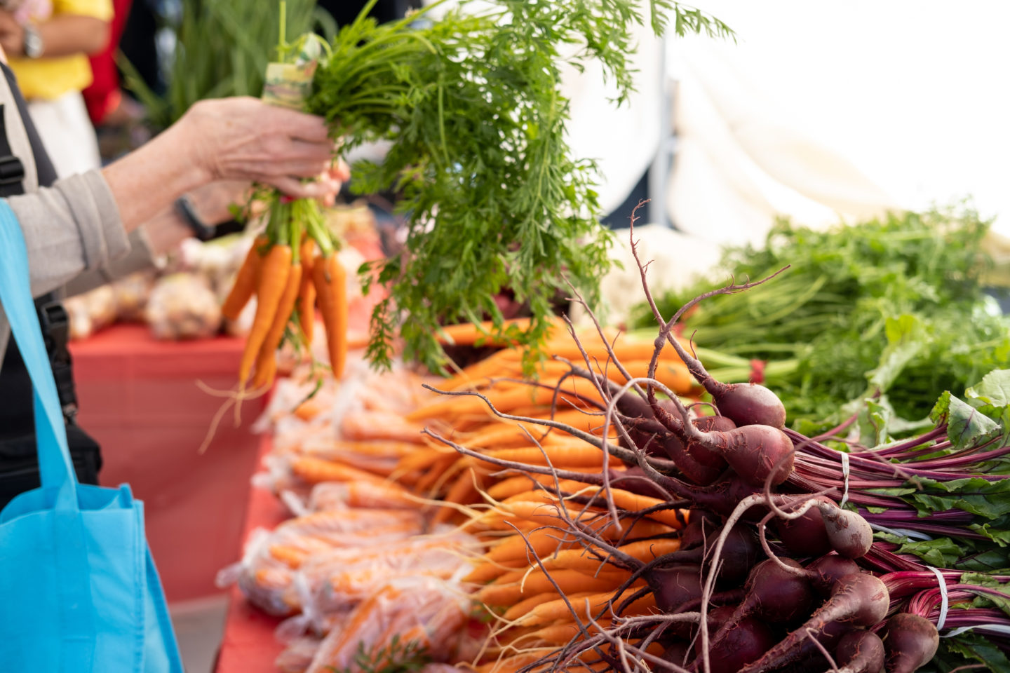
<svg viewBox="0 0 1010 673"><path fill-rule="evenodd" d="M437 325L490 317L500 327L494 295L503 288L529 302L523 343L544 338L567 282L592 299L610 237L598 225L595 166L573 156L565 138L563 63L599 62L619 103L633 83L632 24L648 20L662 31L672 13L678 34L732 35L672 0L650 0L648 16L639 6L464 0L435 20L430 6L383 25L363 12L340 29L308 109L346 148L391 143L381 164L352 166L352 185L396 189L408 220L409 254L363 269L390 290L372 315L374 363L390 363L399 332L407 358L439 369Z"/></svg>

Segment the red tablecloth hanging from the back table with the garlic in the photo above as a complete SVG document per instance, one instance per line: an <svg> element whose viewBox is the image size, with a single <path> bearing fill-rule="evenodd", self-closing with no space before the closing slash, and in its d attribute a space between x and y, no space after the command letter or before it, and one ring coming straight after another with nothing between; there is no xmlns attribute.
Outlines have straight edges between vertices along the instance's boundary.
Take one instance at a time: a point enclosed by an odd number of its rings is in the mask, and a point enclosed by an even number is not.
<svg viewBox="0 0 1010 673"><path fill-rule="evenodd" d="M214 577L241 549L265 399L246 401L242 426L220 425L197 449L223 402L201 391L235 382L242 341L156 341L120 325L71 344L79 422L102 446L105 485L128 482L144 501L147 540L170 602L220 594Z"/></svg>

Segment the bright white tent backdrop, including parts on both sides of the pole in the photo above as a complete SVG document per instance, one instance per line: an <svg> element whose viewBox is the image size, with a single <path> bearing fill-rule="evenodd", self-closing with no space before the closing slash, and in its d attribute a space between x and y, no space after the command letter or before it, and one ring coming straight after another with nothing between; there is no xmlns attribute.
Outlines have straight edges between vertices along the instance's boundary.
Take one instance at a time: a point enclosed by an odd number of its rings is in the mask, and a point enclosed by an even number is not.
<svg viewBox="0 0 1010 673"><path fill-rule="evenodd" d="M779 215L823 227L970 197L1010 236L1010 2L697 4L736 41L668 36L664 49L639 31L638 93L621 110L592 69L566 81L572 144L599 159L608 209L654 155L672 102L663 195L677 232L642 232L646 256L666 260L660 285L709 267L715 244L762 242ZM622 247L615 297L638 283Z"/></svg>

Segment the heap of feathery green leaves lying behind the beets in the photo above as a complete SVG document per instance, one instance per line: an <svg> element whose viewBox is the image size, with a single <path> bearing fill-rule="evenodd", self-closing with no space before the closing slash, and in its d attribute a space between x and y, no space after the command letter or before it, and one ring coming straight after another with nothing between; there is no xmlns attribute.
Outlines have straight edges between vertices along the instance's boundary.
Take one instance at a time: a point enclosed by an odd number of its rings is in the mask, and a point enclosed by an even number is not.
<svg viewBox="0 0 1010 673"><path fill-rule="evenodd" d="M884 430L900 435L921 427L938 390L962 395L1010 366L1010 321L992 310L981 282L990 265L983 247L989 224L967 207L823 232L780 221L763 247L727 249L722 268L758 278L792 267L702 303L684 321L685 333L697 330L695 340L710 350L768 360L766 384L805 434L836 425L879 395L893 408ZM665 298L661 309L670 316L717 283L700 281ZM636 315L636 324L651 328L644 308ZM712 373L733 381L750 372L714 366ZM980 395L999 396L985 390Z"/></svg>

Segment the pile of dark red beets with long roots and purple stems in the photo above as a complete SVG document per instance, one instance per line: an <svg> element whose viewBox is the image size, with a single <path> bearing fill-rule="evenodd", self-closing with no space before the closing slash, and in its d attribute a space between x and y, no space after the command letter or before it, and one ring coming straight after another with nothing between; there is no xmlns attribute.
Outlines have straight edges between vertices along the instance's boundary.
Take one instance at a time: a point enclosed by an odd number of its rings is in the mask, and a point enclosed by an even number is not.
<svg viewBox="0 0 1010 673"><path fill-rule="evenodd" d="M770 389L715 380L670 336L703 298L669 322L654 312L664 336L655 355L669 342L711 396L716 416L692 418L677 396L661 399L667 390L654 377L635 388L590 376L620 437L597 438L597 446L641 470L647 484L636 489L661 490L667 508L689 508L679 549L648 561L568 506L557 508L553 521L517 529L515 544L538 559L516 570L486 562L487 574L475 575L543 573L556 591L543 604L568 622L564 632L545 632L539 607L513 603L485 649L486 668L1010 670L1010 371L991 372L965 400L943 392L930 415L934 427L915 438L864 445L841 437L857 415L809 438L784 429L786 409ZM619 368L620 359L608 365ZM489 468L529 474L544 498L582 501L591 488L605 513L622 514L627 495L606 472L499 459L432 435ZM656 447L674 469L650 457ZM624 573L625 581L609 596L577 596L551 583L564 572L551 559L565 552L532 547L534 536L548 533L595 556L598 575Z"/></svg>

